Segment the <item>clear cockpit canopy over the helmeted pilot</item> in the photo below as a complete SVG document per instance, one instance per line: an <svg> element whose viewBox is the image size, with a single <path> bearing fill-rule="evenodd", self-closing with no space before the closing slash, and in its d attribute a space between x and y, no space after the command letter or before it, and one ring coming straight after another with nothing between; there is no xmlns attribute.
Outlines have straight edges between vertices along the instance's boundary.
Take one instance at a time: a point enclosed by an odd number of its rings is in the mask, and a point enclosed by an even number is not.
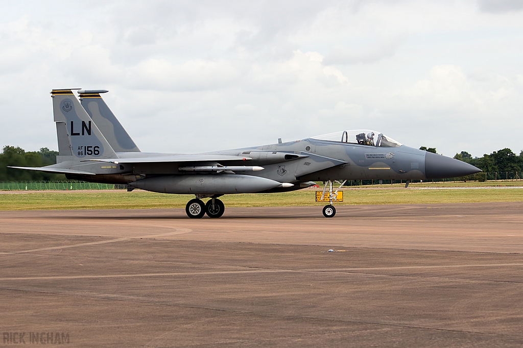
<svg viewBox="0 0 523 348"><path fill-rule="evenodd" d="M359 145L386 148L397 148L401 146L401 143L390 138L389 136L386 136L383 133L379 133L378 131L370 129L337 131L336 133L315 136L312 137L312 139L347 142Z"/></svg>

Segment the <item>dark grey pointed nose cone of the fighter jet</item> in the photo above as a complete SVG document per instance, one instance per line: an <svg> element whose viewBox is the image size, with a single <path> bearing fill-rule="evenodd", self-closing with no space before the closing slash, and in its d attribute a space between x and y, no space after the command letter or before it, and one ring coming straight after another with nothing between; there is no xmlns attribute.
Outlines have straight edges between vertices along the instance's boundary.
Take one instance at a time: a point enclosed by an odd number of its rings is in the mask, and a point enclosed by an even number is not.
<svg viewBox="0 0 523 348"><path fill-rule="evenodd" d="M469 163L432 152L425 154L425 177L427 179L444 179L478 172L481 172L481 169Z"/></svg>

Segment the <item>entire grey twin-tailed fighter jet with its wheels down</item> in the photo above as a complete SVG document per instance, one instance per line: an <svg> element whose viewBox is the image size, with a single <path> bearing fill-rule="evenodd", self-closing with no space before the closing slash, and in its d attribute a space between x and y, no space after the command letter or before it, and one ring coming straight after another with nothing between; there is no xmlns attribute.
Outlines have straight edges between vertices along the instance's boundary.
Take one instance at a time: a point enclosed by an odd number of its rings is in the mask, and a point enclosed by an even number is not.
<svg viewBox="0 0 523 348"><path fill-rule="evenodd" d="M56 164L12 167L65 174L68 179L123 184L165 194L187 194L189 218L219 218L223 195L277 193L323 182L317 201L323 215L336 214L333 203L348 180L424 180L459 177L481 170L468 163L407 147L379 131L341 130L242 149L196 154L141 152L100 93L106 90L53 89L58 137ZM333 183L339 187L334 190ZM202 199L210 198L206 203Z"/></svg>

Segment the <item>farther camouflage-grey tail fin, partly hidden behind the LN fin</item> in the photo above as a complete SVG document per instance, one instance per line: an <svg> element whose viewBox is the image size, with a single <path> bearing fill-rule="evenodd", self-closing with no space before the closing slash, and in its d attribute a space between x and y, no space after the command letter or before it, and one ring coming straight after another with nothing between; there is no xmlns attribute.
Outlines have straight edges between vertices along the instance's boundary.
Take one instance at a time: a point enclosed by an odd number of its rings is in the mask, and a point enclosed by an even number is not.
<svg viewBox="0 0 523 348"><path fill-rule="evenodd" d="M100 93L107 90L79 90L80 101L85 111L93 119L98 129L116 152L140 152L140 149L122 127L116 116L107 106Z"/></svg>

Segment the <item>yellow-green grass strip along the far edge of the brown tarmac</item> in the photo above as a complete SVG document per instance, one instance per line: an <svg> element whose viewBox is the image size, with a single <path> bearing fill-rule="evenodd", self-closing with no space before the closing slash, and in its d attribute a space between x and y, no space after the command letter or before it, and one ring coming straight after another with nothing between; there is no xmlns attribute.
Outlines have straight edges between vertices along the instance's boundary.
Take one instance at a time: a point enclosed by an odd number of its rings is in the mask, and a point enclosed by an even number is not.
<svg viewBox="0 0 523 348"><path fill-rule="evenodd" d="M511 202L523 201L523 188L474 188L480 185L467 183L463 189L439 188L427 183L384 187L354 187L344 190L344 201L336 205L388 205L459 202ZM481 185L499 186L498 185ZM519 182L519 185L523 183ZM449 185L450 186L450 185ZM463 183L461 183L463 186ZM278 207L323 206L314 201L314 189L283 194L225 195L220 199L226 207ZM184 208L191 195L165 195L141 190L103 191L3 191L0 193L0 210L45 209L147 209Z"/></svg>

